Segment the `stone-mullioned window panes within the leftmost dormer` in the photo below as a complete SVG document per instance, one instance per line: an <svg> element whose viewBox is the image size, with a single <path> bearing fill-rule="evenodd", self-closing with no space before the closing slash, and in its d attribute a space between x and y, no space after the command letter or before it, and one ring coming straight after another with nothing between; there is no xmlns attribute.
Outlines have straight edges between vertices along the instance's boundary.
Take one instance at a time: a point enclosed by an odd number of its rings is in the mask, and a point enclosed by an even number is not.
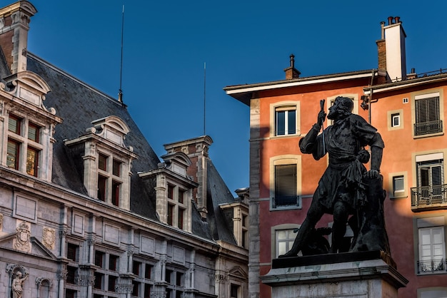
<svg viewBox="0 0 447 298"><path fill-rule="evenodd" d="M6 166L38 177L41 127L12 113L8 118Z"/></svg>

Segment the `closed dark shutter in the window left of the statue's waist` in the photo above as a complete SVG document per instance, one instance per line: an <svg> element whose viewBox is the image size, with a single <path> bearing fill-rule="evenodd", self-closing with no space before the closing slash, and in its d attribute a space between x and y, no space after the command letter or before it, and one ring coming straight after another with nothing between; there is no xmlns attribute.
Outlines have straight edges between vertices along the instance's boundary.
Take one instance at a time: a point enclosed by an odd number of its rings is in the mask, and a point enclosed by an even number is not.
<svg viewBox="0 0 447 298"><path fill-rule="evenodd" d="M296 165L276 165L276 206L296 205L296 196Z"/></svg>

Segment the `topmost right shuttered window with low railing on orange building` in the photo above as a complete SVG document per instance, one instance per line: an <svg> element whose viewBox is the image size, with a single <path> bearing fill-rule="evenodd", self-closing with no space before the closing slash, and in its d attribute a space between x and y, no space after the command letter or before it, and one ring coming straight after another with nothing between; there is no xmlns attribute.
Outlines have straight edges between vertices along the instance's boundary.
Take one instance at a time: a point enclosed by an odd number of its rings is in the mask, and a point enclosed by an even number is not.
<svg viewBox="0 0 447 298"><path fill-rule="evenodd" d="M440 93L428 93L414 97L414 135L442 133Z"/></svg>

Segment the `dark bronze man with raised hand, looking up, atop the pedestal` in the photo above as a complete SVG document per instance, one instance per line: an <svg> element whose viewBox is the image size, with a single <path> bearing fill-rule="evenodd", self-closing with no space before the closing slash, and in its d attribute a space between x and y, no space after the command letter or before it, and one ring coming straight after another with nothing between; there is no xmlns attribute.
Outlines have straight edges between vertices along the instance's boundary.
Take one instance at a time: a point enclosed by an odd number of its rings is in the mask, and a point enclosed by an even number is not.
<svg viewBox="0 0 447 298"><path fill-rule="evenodd" d="M293 247L280 257L298 255L313 227L325 213L333 215L330 252L338 252L346 232L348 216L353 215L365 199L363 175L367 178L379 176L383 140L376 128L361 116L351 113L352 108L351 98L337 97L327 115L328 119L333 120L333 125L318 135L326 118L326 113L321 109L317 123L300 140L301 153L312 154L316 160L328 153L329 165L318 182L311 207L296 235ZM363 165L369 160L369 153L363 148L366 145L371 148L371 170L368 171Z"/></svg>

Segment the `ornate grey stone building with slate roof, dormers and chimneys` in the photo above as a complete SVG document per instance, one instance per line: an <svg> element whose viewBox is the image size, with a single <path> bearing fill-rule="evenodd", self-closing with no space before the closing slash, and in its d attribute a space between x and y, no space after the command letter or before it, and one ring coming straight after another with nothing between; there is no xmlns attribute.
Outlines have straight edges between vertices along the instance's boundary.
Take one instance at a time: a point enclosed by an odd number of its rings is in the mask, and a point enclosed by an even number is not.
<svg viewBox="0 0 447 298"><path fill-rule="evenodd" d="M248 192L231 195L213 140L160 160L122 101L29 53L34 14L0 9L0 293L245 297Z"/></svg>

